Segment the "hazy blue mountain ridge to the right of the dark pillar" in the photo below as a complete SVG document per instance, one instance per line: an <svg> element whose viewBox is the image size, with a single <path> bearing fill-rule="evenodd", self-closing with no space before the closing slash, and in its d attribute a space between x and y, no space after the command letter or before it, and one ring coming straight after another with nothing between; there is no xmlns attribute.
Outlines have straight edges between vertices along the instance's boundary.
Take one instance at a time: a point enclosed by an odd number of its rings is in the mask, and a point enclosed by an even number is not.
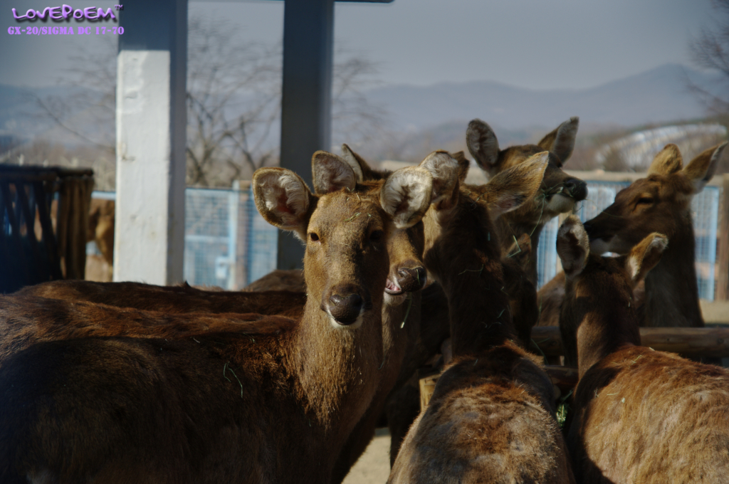
<svg viewBox="0 0 729 484"><path fill-rule="evenodd" d="M579 116L582 125L635 126L703 117L704 106L687 79L712 89L712 77L666 64L589 89L529 90L493 81L391 85L367 92L389 111L393 128L424 130L446 122L482 120L507 129L558 125Z"/></svg>

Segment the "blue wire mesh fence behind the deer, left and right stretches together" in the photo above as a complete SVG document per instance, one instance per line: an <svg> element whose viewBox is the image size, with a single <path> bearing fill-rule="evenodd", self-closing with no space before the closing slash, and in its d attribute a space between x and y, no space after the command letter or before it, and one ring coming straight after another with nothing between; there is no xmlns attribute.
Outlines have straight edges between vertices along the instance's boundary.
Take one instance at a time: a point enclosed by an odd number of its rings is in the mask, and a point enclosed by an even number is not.
<svg viewBox="0 0 729 484"><path fill-rule="evenodd" d="M577 210L582 222L607 208L630 183L587 184L588 198ZM699 297L710 301L714 300L720 195L719 187L709 185L691 203ZM556 250L558 228L555 218L539 237L539 287L561 270ZM185 190L183 273L189 284L241 289L276 268L277 247L278 230L258 213L249 183L236 184L232 190Z"/></svg>

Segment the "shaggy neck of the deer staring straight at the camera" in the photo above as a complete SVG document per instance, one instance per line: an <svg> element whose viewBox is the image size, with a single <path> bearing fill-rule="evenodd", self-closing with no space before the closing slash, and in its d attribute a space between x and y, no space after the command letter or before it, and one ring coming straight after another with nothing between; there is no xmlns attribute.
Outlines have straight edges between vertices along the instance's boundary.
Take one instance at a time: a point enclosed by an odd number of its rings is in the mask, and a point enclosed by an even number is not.
<svg viewBox="0 0 729 484"><path fill-rule="evenodd" d="M378 386L383 359L382 299L373 297L373 308L363 315L358 328L333 326L319 307L320 300L308 297L288 351L305 413L328 439L346 439Z"/></svg>

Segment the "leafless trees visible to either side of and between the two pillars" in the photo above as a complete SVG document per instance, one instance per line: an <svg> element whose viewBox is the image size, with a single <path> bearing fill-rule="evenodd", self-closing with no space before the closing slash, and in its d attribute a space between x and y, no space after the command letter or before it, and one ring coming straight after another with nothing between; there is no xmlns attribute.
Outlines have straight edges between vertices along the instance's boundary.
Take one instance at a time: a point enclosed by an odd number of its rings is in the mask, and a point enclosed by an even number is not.
<svg viewBox="0 0 729 484"><path fill-rule="evenodd" d="M186 149L189 185L229 187L233 179L248 179L257 168L278 164L281 45L243 42L237 31L229 22L194 15L190 18ZM44 120L52 120L53 129L85 147L84 155L89 154L89 147L106 154L109 163L103 167L93 162L95 171L103 168L106 189L114 186L116 52L115 42L80 52L73 59L74 69L59 79L60 84L75 86L71 94L35 97ZM383 109L370 104L363 94L375 83L376 69L363 55L341 52L338 57L343 60L334 68L332 139L361 146L384 133ZM38 149L31 151L39 153ZM69 156L74 159L73 154ZM80 163L90 164L88 160Z"/></svg>

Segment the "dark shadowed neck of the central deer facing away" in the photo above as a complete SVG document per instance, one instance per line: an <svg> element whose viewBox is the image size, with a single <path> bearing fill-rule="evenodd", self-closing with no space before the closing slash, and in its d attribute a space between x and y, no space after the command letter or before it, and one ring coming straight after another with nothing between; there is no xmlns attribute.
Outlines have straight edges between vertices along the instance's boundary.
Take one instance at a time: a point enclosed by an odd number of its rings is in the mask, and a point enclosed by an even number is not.
<svg viewBox="0 0 729 484"><path fill-rule="evenodd" d="M433 272L448 297L453 356L477 355L515 339L495 227L486 209L477 207L459 203L433 246Z"/></svg>

